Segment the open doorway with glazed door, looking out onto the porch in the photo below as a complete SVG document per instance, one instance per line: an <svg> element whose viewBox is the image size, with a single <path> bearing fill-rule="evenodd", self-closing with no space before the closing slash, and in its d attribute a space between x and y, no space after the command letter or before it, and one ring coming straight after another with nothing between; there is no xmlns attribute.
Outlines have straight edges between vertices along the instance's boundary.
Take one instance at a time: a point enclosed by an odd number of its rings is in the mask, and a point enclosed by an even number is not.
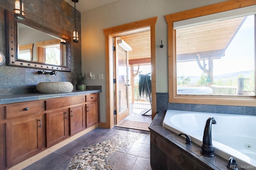
<svg viewBox="0 0 256 170"><path fill-rule="evenodd" d="M148 130L152 121L150 28L114 37L113 42L114 123L120 127Z"/></svg>

